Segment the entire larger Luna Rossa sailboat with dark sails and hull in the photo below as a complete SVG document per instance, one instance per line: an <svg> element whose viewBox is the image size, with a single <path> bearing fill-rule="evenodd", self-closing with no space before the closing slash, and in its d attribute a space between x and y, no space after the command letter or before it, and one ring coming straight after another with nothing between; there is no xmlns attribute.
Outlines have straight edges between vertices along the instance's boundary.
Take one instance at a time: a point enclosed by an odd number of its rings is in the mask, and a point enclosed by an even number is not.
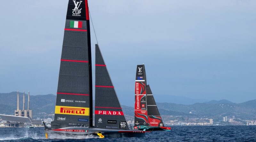
<svg viewBox="0 0 256 142"><path fill-rule="evenodd" d="M87 0L69 0L66 17L54 121L48 133L143 137L130 130L116 95L106 64L96 44L95 127L92 125L92 57Z"/></svg>

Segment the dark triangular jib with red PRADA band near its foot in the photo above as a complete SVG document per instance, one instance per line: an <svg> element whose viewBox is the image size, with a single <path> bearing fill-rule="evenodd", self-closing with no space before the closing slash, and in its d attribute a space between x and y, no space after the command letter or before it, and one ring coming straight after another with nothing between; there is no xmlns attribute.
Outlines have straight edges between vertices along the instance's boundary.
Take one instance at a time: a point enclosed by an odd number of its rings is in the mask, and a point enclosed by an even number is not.
<svg viewBox="0 0 256 142"><path fill-rule="evenodd" d="M98 44L95 54L95 128L129 129Z"/></svg>

